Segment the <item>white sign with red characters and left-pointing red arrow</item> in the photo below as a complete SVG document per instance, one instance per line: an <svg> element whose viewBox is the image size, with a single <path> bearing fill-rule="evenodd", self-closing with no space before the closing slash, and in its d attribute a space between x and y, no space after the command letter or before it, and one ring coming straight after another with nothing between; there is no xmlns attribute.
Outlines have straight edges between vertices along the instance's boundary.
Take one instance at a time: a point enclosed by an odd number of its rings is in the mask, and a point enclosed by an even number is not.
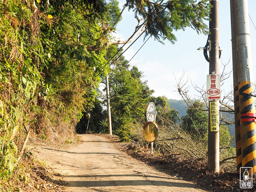
<svg viewBox="0 0 256 192"><path fill-rule="evenodd" d="M220 101L220 74L207 75L207 101Z"/></svg>

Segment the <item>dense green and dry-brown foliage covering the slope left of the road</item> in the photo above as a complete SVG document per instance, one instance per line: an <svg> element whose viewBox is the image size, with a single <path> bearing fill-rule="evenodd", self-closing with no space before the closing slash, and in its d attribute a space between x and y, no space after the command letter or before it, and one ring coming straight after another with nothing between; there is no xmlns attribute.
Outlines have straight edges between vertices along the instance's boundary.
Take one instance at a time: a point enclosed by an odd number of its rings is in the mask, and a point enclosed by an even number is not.
<svg viewBox="0 0 256 192"><path fill-rule="evenodd" d="M109 32L95 20L111 25L120 12L116 1L109 9L105 1L100 7L76 3L41 1L38 9L29 1L0 3L0 181L11 178L25 127L43 140L55 127L65 141L82 111L94 107L99 75L108 68L103 45Z"/></svg>

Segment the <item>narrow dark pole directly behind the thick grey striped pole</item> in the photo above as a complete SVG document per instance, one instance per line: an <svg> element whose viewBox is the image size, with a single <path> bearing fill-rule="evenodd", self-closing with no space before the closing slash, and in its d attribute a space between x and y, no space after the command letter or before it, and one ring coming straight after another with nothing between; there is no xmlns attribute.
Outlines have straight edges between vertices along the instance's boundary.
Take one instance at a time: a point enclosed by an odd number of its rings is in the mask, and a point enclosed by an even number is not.
<svg viewBox="0 0 256 192"><path fill-rule="evenodd" d="M234 111L235 111L235 138L236 138L236 169L240 172L242 167L241 154L241 134L240 134L240 114L239 114L239 95L238 95L238 75L236 60L236 18L235 1L230 0L230 20L231 20L231 41L232 41L232 63L233 63L233 85L234 85Z"/></svg>

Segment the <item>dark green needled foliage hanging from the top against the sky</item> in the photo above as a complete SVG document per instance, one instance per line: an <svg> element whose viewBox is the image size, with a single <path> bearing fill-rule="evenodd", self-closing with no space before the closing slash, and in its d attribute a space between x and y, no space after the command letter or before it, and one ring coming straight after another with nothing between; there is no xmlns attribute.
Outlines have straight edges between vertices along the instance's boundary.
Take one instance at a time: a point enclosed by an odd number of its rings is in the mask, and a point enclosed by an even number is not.
<svg viewBox="0 0 256 192"><path fill-rule="evenodd" d="M135 16L145 18L145 37L152 35L161 43L165 39L174 43L177 39L173 31L185 30L186 27L192 27L197 33L208 34L208 27L204 23L209 20L208 0L128 0L127 3L129 9L134 10Z"/></svg>

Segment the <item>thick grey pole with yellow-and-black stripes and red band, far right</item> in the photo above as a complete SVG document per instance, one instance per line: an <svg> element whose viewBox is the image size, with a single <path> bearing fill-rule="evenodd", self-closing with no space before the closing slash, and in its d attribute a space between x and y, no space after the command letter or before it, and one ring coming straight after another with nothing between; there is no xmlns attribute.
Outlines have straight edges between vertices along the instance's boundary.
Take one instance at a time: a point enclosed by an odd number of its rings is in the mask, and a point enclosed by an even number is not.
<svg viewBox="0 0 256 192"><path fill-rule="evenodd" d="M254 97L251 95L254 87L252 85L253 71L248 2L247 0L234 0L234 2L242 167L252 167L252 172L255 173L256 123Z"/></svg>

